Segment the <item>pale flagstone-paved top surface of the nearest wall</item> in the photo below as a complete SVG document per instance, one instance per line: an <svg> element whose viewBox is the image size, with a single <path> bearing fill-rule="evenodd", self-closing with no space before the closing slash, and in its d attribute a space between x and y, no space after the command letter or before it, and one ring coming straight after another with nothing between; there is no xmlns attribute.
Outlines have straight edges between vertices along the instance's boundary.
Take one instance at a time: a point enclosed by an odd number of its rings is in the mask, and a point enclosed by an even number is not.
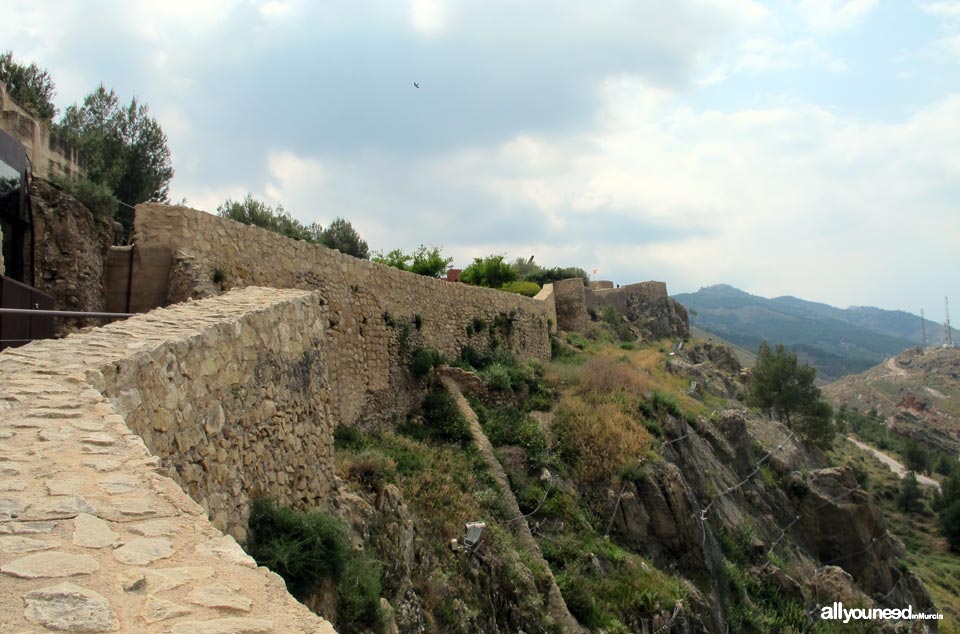
<svg viewBox="0 0 960 634"><path fill-rule="evenodd" d="M0 632L334 632L158 473L86 381L120 348L297 295L246 289L0 354Z"/></svg>

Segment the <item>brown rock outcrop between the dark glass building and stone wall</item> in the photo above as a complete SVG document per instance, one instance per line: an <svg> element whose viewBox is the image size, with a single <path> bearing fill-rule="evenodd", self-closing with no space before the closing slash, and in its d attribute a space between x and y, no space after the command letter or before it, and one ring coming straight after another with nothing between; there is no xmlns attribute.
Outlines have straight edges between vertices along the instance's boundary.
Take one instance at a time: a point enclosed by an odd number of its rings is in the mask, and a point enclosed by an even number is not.
<svg viewBox="0 0 960 634"><path fill-rule="evenodd" d="M40 178L30 181L30 205L35 286L53 295L57 310L104 310L107 253L115 235L113 220L93 213ZM30 253L29 245L25 251ZM100 323L102 320L57 319L56 333L62 336Z"/></svg>

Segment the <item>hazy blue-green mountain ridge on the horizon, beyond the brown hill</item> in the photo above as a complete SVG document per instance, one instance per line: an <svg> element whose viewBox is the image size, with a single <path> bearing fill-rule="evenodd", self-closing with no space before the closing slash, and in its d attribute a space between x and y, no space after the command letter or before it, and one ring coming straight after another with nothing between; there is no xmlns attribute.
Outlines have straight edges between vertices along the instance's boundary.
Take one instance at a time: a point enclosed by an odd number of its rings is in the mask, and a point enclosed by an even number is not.
<svg viewBox="0 0 960 634"><path fill-rule="evenodd" d="M862 372L921 343L920 317L904 311L768 299L725 284L673 298L693 311L691 325L751 351L764 340L782 343L817 368L824 381ZM942 343L940 324L926 325L931 344ZM960 332L953 332L960 341Z"/></svg>

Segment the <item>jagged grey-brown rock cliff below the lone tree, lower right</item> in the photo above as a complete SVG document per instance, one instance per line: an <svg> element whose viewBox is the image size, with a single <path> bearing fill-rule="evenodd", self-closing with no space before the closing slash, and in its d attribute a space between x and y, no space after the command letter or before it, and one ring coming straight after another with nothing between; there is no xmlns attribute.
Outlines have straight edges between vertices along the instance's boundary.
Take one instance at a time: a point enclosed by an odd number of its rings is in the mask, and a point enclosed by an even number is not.
<svg viewBox="0 0 960 634"><path fill-rule="evenodd" d="M808 609L847 599L933 609L922 582L901 570L902 544L849 468L824 467L787 429L743 410L695 425L674 420L664 431L663 462L627 487L612 534L696 584L704 605L692 631L725 631L730 606L749 602L725 581L724 562L737 558ZM613 509L617 493L608 496ZM778 553L790 553L789 572L768 559Z"/></svg>

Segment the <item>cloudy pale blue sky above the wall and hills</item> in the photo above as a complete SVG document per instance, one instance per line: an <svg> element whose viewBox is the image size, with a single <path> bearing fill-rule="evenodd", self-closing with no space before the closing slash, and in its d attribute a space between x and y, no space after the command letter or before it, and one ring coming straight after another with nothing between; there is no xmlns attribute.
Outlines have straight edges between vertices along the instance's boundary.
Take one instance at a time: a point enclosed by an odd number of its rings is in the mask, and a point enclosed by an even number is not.
<svg viewBox="0 0 960 634"><path fill-rule="evenodd" d="M5 4L61 108L150 105L193 207L960 314L958 1Z"/></svg>

